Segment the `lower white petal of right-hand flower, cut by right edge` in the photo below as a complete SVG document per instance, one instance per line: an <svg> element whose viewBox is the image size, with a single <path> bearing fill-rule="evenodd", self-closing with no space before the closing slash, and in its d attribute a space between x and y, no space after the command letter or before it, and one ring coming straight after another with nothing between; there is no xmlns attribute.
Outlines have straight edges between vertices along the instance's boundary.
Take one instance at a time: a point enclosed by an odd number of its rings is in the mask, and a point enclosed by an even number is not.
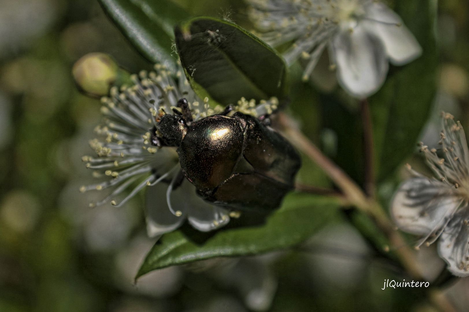
<svg viewBox="0 0 469 312"><path fill-rule="evenodd" d="M466 222L465 222L466 221ZM469 276L469 209L454 214L438 243L438 253L448 263L448 270L457 276Z"/></svg>

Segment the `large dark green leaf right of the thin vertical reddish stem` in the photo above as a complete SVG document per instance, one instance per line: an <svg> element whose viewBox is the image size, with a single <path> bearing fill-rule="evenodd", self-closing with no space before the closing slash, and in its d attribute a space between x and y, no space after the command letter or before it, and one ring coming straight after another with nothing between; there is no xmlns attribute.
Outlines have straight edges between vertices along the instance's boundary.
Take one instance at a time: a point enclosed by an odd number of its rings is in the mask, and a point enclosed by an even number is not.
<svg viewBox="0 0 469 312"><path fill-rule="evenodd" d="M392 68L386 84L370 98L378 180L386 178L415 151L436 91L436 1L396 1L394 10L424 52L408 65Z"/></svg>

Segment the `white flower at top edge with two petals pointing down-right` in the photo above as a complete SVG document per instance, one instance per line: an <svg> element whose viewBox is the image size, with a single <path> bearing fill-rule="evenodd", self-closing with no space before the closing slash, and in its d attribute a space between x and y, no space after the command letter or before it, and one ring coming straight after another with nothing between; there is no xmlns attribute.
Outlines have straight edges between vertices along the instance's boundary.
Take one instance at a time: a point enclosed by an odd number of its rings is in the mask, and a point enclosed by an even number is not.
<svg viewBox="0 0 469 312"><path fill-rule="evenodd" d="M378 91L388 59L403 65L422 48L401 18L375 0L246 0L260 38L271 46L293 41L284 53L291 65L309 60L308 80L326 46L342 87L358 98Z"/></svg>

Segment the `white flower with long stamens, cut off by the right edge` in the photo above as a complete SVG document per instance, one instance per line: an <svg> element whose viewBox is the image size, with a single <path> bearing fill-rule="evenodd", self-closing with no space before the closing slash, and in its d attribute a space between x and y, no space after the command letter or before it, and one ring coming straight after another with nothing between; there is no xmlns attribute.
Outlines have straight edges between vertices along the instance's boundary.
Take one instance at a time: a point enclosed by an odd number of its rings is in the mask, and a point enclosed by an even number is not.
<svg viewBox="0 0 469 312"><path fill-rule="evenodd" d="M422 235L417 248L438 242L438 252L455 275L469 275L469 150L460 122L443 113L441 149L421 145L436 178L410 169L413 178L394 195L391 215L401 230Z"/></svg>

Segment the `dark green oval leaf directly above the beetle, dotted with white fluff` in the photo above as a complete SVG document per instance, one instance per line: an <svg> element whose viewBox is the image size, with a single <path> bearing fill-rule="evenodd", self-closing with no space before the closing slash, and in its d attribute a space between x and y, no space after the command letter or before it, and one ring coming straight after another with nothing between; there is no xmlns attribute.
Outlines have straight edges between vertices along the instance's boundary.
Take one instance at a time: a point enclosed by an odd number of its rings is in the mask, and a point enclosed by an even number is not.
<svg viewBox="0 0 469 312"><path fill-rule="evenodd" d="M213 17L192 18L174 29L181 64L217 102L282 99L286 67L270 46L240 26Z"/></svg>

